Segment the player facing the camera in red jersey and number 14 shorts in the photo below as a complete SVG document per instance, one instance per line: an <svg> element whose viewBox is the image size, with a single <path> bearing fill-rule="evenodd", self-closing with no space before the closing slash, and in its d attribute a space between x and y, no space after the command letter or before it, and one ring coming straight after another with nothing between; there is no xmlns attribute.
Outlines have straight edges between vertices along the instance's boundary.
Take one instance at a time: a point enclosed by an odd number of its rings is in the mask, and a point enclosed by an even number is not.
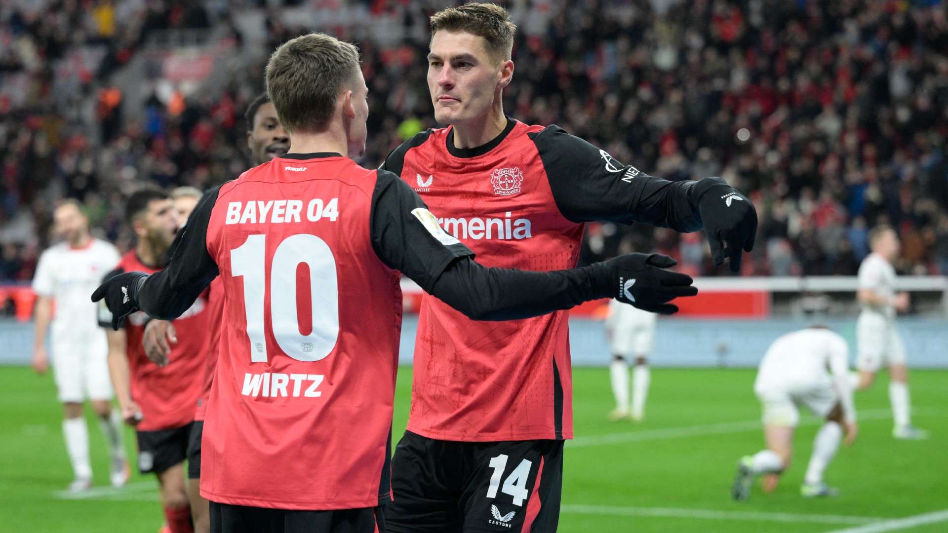
<svg viewBox="0 0 948 533"><path fill-rule="evenodd" d="M737 271L757 229L747 198L719 177L650 177L557 126L504 116L516 29L504 9L465 4L435 13L430 26L428 89L435 119L450 127L406 140L380 168L401 175L484 265L573 267L584 222L608 220L703 225L715 263L726 254ZM471 322L423 299L390 529L556 530L571 374L566 313Z"/></svg>

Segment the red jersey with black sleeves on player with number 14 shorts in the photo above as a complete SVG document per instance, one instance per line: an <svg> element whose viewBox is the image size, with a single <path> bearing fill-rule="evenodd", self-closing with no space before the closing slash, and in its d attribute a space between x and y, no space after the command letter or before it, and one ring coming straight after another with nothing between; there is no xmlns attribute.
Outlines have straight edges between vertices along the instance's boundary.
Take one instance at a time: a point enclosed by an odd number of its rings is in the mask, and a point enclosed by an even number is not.
<svg viewBox="0 0 948 533"><path fill-rule="evenodd" d="M508 119L500 136L472 149L456 148L452 131L410 138L381 168L401 175L484 266L574 267L591 220L702 227L692 183L643 174L557 126ZM411 391L408 429L429 438L572 438L566 312L477 322L426 296Z"/></svg>

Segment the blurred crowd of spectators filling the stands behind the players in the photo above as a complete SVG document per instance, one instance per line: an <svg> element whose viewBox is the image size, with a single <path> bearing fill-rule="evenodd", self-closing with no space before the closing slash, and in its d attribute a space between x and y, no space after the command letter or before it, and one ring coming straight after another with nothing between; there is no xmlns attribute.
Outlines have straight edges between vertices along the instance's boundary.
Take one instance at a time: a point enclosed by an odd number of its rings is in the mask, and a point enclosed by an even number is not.
<svg viewBox="0 0 948 533"><path fill-rule="evenodd" d="M174 104L155 96L146 119L126 119L108 76L147 32L228 24L227 8L211 3L209 17L175 0L47 4L54 16L0 9L0 82L24 75L28 82L0 92L6 281L31 278L59 198L81 198L92 224L127 249L123 197L142 182L207 187L246 170L243 112L263 90L259 63L235 72L223 94ZM359 4L424 24L426 9L417 6ZM727 179L761 217L742 273L854 275L867 231L888 223L902 237L900 271L948 274L944 2L628 0L537 3L515 13L532 16L541 7L552 9L546 27L518 33L507 114L559 124L647 174ZM279 9L265 12L271 49L313 29L288 25ZM428 43L381 46L333 32L362 51L371 113L361 162L375 166L403 138L436 126ZM98 71L59 83L48 65L84 43L106 46ZM90 91L96 105L83 114L77 103ZM712 267L701 234L645 226L589 225L584 260L647 249L675 257L691 274L726 271Z"/></svg>

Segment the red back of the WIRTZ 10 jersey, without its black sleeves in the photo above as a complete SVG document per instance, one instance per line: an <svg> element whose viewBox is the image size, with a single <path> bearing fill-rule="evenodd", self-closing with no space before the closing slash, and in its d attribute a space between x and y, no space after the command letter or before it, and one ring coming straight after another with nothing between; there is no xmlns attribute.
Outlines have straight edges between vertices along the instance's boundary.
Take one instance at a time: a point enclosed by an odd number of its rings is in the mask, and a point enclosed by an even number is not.
<svg viewBox="0 0 948 533"><path fill-rule="evenodd" d="M347 157L288 155L220 188L206 238L225 293L210 501L320 510L390 496L401 291L370 237L375 185Z"/></svg>

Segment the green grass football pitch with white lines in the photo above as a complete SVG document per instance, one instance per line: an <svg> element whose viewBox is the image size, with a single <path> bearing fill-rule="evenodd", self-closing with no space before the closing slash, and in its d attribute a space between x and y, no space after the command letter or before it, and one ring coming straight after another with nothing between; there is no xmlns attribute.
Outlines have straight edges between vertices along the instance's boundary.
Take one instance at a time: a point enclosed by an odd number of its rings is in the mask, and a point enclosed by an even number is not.
<svg viewBox="0 0 948 533"><path fill-rule="evenodd" d="M751 370L656 369L647 420L611 423L608 371L574 369L576 438L566 445L559 531L948 531L948 372L912 375L914 422L931 432L928 441L892 439L884 377L857 395L859 439L827 472L838 498L799 496L818 427L805 416L795 463L776 492L756 487L738 504L729 496L735 463L762 444L753 379ZM399 431L409 401L403 367ZM123 489L108 487L97 424L89 433L97 487L62 492L71 472L60 409L51 377L0 367L0 531L155 533L162 515L154 479L136 475ZM126 443L134 456L131 431Z"/></svg>

